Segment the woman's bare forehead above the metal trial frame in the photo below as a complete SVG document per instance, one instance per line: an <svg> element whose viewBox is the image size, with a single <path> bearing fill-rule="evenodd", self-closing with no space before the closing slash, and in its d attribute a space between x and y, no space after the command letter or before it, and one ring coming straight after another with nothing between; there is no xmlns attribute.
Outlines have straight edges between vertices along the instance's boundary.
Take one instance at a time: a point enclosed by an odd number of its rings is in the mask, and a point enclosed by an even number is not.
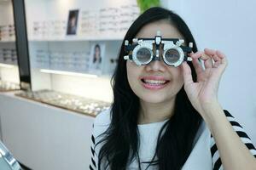
<svg viewBox="0 0 256 170"><path fill-rule="evenodd" d="M160 20L149 23L138 31L136 37L155 37L156 31L160 31L163 38L183 38L182 34L175 26L172 26L170 21Z"/></svg>

